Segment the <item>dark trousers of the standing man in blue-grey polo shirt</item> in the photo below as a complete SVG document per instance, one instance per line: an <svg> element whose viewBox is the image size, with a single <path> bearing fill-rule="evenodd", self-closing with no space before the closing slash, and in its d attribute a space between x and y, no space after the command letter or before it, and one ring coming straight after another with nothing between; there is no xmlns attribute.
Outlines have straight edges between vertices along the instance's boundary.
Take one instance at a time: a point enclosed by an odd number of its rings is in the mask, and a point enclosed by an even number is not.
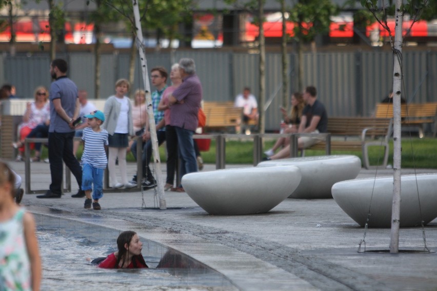
<svg viewBox="0 0 437 291"><path fill-rule="evenodd" d="M50 174L52 177L50 191L52 193L61 194L62 176L64 172L62 161L65 162L71 173L73 173L79 185L79 189L81 189L82 168L73 155L73 137L74 131L68 133L49 133L49 160Z"/></svg>

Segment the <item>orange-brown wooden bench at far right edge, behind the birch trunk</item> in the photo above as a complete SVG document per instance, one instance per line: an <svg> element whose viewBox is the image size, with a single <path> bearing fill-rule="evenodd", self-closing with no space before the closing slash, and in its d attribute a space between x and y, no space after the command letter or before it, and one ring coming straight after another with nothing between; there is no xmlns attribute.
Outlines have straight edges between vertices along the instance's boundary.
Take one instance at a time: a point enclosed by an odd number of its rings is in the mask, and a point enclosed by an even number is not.
<svg viewBox="0 0 437 291"><path fill-rule="evenodd" d="M375 117L393 118L392 103L378 103ZM401 105L401 124L403 127L413 127L419 131L419 137L424 136L425 124L431 124L432 136L437 132L437 102L409 103Z"/></svg>

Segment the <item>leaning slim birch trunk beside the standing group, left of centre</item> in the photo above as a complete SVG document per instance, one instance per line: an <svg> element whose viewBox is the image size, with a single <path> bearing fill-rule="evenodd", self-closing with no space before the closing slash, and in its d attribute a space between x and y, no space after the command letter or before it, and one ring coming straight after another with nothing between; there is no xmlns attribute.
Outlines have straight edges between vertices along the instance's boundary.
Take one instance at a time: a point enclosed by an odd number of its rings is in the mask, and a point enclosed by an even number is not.
<svg viewBox="0 0 437 291"><path fill-rule="evenodd" d="M158 139L156 136L156 124L155 124L155 118L153 116L153 106L152 106L152 98L150 95L150 83L149 83L149 74L147 70L147 61L146 56L144 53L143 46L143 30L141 29L141 23L140 23L140 9L138 8L138 1L132 0L132 6L133 6L133 15L135 17L135 30L136 30L136 37L138 39L137 46L138 46L138 53L140 54L140 60L141 60L141 70L143 73L143 81L144 81L144 88L146 91L146 104L147 104L147 114L149 115L149 128L150 128L150 138L152 141L152 152L153 152L153 163L155 166L155 179L157 183L157 194L158 199L160 203L160 209L167 209L167 203L164 196L164 185L161 181L162 179L162 173L161 173L161 160L160 160L160 153L158 152ZM139 44L138 44L139 43ZM140 177L141 179L141 177ZM138 179L138 182L141 180Z"/></svg>

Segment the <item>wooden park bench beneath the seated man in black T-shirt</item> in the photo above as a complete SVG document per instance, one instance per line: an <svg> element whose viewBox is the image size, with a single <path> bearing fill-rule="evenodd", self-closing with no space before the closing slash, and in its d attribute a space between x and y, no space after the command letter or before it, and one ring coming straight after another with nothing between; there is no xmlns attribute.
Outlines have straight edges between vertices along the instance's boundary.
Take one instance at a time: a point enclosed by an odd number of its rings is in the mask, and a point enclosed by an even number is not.
<svg viewBox="0 0 437 291"><path fill-rule="evenodd" d="M362 151L363 163L370 168L368 148L384 147L383 167L387 167L389 138L392 133L391 118L374 117L329 117L328 133L331 134L330 149L333 151ZM297 134L299 136L299 134ZM321 141L307 149L325 150L326 143Z"/></svg>

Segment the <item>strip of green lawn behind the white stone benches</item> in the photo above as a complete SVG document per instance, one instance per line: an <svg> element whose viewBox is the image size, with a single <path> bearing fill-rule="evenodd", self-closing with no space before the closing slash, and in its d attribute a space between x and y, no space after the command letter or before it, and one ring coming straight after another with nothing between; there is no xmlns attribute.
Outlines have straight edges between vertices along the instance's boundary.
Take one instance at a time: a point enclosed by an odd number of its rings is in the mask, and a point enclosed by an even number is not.
<svg viewBox="0 0 437 291"><path fill-rule="evenodd" d="M273 146L274 141L266 141L265 149ZM307 150L306 156L324 155L324 151ZM356 155L362 158L361 151L332 151L332 154L340 155ZM82 148L78 150L78 156L82 155ZM164 147L160 147L161 161L166 160ZM384 157L382 149L372 147L369 149L370 164L378 164L382 162ZM202 158L205 163L215 163L215 142L211 140L211 147L208 152L202 152ZM134 161L132 154L127 155L128 161ZM380 162L379 162L380 161ZM252 164L253 163L253 143L251 140L226 142L226 163L230 164ZM390 143L390 154L388 159L389 164L393 164L393 144ZM425 137L402 138L402 168L428 168L437 169L437 138Z"/></svg>

